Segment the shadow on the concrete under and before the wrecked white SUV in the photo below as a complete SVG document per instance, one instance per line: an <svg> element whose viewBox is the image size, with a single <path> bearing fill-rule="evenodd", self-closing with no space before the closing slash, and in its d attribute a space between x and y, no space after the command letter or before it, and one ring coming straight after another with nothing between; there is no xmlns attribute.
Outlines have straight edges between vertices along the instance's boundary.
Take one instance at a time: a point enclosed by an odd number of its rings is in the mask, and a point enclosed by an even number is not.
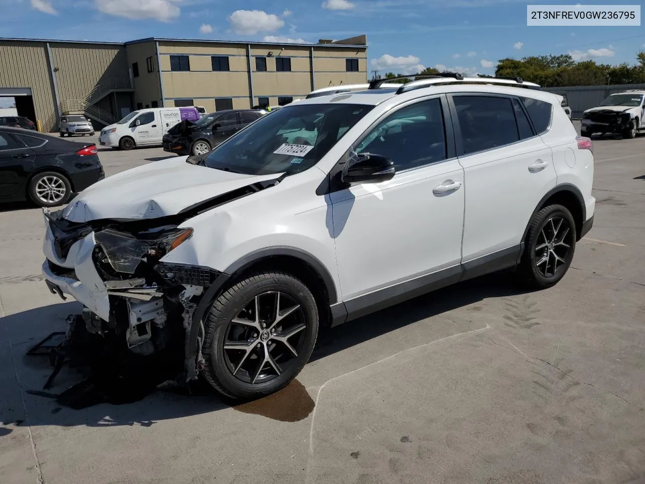
<svg viewBox="0 0 645 484"><path fill-rule="evenodd" d="M491 274L437 290L352 323L324 330L311 360L330 356L422 319L477 303L488 297L521 293L507 273ZM41 390L52 370L48 358L26 356L28 348L45 338L52 330L64 330L66 316L77 314L80 308L78 303L70 302L6 316L8 337L12 340L23 392ZM119 402L127 405L109 405L104 403L105 399L99 398L99 401L95 402L97 405L90 402L82 410L74 410L65 407L64 403L60 402L61 399L55 398L65 390L66 381L67 387L70 387L70 383L83 380L84 377L86 374L83 375L81 371L65 367L52 390L48 390L54 394L53 398L26 394L25 399L30 408L30 425L112 427L138 424L150 427L157 421L204 414L224 408L258 414L278 421L299 421L306 418L314 406L312 398L297 380L271 396L237 405L221 398L208 384L201 381L191 382L188 386L166 382L143 393L139 389L137 395L129 399L125 396ZM107 414L109 417L106 417ZM6 425L13 422L3 423Z"/></svg>

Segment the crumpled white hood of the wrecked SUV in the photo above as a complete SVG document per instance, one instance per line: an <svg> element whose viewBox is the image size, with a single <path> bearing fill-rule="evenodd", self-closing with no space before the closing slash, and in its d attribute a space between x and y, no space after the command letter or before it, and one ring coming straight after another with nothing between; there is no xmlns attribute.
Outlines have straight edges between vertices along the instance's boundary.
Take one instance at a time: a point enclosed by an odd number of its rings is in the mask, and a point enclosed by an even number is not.
<svg viewBox="0 0 645 484"><path fill-rule="evenodd" d="M171 157L109 176L86 188L63 210L71 222L152 219L279 174L253 176L186 163Z"/></svg>

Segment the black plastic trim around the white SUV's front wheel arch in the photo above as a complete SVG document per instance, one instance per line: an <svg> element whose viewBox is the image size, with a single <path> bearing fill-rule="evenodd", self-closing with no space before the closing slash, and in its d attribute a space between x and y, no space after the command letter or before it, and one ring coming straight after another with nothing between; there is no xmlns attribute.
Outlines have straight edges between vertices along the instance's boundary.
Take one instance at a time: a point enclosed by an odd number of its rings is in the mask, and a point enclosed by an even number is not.
<svg viewBox="0 0 645 484"><path fill-rule="evenodd" d="M338 302L338 295L331 274L324 267L323 263L321 263L321 261L317 259L317 257L312 256L312 254L302 249L288 246L267 247L256 250L254 252L251 252L250 254L246 254L246 256L241 257L240 259L237 259L237 261L226 268L224 272L221 272L201 297L199 303L197 304L197 308L195 308L195 312L193 313L193 324L190 327L190 336L188 337L186 344L187 366L188 362L190 362L190 365L195 363L195 368L197 367L197 364L199 364L199 361L196 361L195 358L197 358L197 336L199 334L199 327L201 326L200 323L203 323L206 310L211 305L215 297L217 297L217 295L221 292L224 285L226 285L226 283L228 283L228 281L230 281L232 277L235 276L235 274L239 274L244 269L251 267L253 263L257 263L262 259L266 259L266 257L271 256L292 256L301 259L304 263L308 263L308 265L310 265L313 270L317 272L321 279L323 279L323 283L326 286L327 294L329 297L328 304L332 307L341 306L342 308L344 308L344 305ZM192 378L192 368L186 367L185 369L188 373L186 375L187 378Z"/></svg>

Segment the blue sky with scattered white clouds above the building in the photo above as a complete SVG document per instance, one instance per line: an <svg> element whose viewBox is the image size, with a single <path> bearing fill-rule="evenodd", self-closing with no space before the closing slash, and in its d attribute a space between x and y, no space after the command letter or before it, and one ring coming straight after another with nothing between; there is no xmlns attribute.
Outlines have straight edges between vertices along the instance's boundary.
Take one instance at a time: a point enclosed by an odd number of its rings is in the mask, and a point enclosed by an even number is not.
<svg viewBox="0 0 645 484"><path fill-rule="evenodd" d="M493 74L499 59L569 53L635 63L645 27L526 26L519 0L0 0L0 37L124 42L143 37L315 43L366 34L368 68ZM531 4L572 5L535 0ZM607 5L587 0L584 5ZM621 5L640 5L621 0Z"/></svg>

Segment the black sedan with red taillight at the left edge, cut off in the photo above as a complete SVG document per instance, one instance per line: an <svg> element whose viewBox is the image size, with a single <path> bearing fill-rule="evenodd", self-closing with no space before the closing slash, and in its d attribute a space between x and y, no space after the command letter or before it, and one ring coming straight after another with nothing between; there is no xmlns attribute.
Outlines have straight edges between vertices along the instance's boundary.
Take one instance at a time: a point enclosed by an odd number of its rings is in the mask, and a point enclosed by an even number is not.
<svg viewBox="0 0 645 484"><path fill-rule="evenodd" d="M0 201L66 203L105 177L94 143L0 126Z"/></svg>

